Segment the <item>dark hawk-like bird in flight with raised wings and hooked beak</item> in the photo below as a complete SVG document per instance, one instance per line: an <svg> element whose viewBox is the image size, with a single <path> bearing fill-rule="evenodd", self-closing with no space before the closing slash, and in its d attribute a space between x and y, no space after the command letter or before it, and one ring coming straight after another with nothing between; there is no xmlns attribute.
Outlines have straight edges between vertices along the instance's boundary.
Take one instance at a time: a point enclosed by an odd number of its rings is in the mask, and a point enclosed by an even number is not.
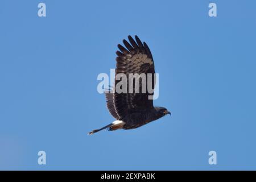
<svg viewBox="0 0 256 182"><path fill-rule="evenodd" d="M155 79L155 66L150 48L145 42L142 43L137 35L135 35L135 40L129 35L128 40L130 43L123 39L125 47L118 44L117 47L119 50L115 52L117 57L115 59L114 86L117 86L118 82L121 81L117 79L118 74L129 77L130 73L138 73L138 75L151 73L151 79ZM146 84L148 83L148 79L149 78L146 78ZM127 82L127 86L129 86L128 84L129 82ZM134 84L131 87L132 91L134 91ZM155 81L154 84L152 84L152 89L154 89L154 87ZM139 89L142 89L142 81L139 82ZM92 135L104 129L108 129L109 131L136 129L156 119L162 118L164 115L171 115L171 112L165 107L155 107L153 105L153 100L149 99L149 96L153 94L154 92L150 93L148 89L146 93L117 93L113 92L113 88L110 86L110 88L105 91L106 106L108 107L109 113L115 118L115 121L101 129L90 131L88 135Z"/></svg>

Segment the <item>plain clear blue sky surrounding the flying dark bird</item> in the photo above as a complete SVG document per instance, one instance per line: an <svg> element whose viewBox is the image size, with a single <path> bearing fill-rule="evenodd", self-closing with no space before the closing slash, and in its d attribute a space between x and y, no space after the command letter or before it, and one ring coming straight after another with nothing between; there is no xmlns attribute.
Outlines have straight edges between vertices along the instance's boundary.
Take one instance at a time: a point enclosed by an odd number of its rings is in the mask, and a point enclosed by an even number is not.
<svg viewBox="0 0 256 182"><path fill-rule="evenodd" d="M0 169L256 169L256 1L0 4ZM88 136L114 121L97 76L127 35L150 47L172 115Z"/></svg>

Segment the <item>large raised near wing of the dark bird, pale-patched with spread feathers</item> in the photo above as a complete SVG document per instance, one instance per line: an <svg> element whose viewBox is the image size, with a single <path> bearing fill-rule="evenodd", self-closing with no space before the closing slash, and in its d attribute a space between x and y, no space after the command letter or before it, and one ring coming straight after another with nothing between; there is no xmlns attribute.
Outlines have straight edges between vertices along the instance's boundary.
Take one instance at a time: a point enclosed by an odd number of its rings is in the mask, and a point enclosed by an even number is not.
<svg viewBox="0 0 256 182"><path fill-rule="evenodd" d="M127 90L129 88L129 73L152 73L152 86L151 89L155 87L154 81L154 61L150 49L145 42L141 42L138 36L135 36L135 40L129 35L128 39L130 43L123 40L125 47L118 44L120 51L117 51L117 68L115 69L115 78L118 73L123 73L127 77ZM115 86L118 84L119 80L115 79ZM148 82L146 82L147 84ZM154 93L148 93L146 88L146 93L141 93L142 84L140 82L140 93L117 93L113 94L113 104L111 108L114 108L115 113L119 118L125 117L126 114L145 111L154 108L152 100L148 100L148 96L152 96ZM111 111L110 111L111 113ZM113 114L112 114L113 115Z"/></svg>

